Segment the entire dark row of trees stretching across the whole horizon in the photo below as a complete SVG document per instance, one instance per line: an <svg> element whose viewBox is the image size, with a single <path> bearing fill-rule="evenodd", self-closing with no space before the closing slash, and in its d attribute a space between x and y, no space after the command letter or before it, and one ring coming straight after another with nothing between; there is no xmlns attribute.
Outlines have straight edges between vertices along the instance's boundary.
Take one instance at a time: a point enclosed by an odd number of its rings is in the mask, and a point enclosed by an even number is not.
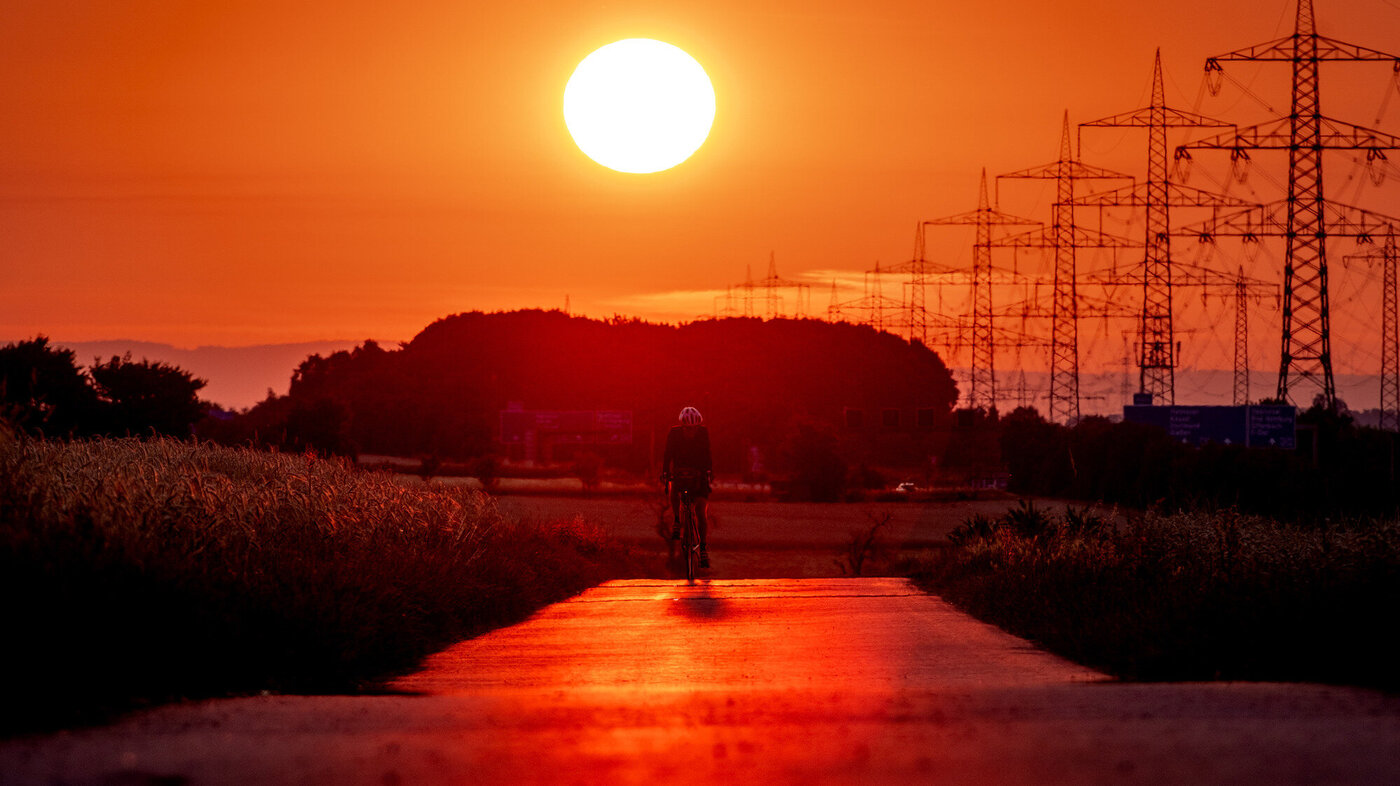
<svg viewBox="0 0 1400 786"><path fill-rule="evenodd" d="M311 356L286 397L209 415L203 380L111 357L81 367L43 336L0 347L0 419L38 436L190 436L228 444L475 460L497 455L500 411L627 409L631 444L580 446L650 469L683 405L713 425L717 471L752 457L792 499L879 485L869 467L928 465L945 478L1005 468L1011 490L1133 507L1238 506L1275 516L1393 511L1396 436L1313 406L1299 451L1187 446L1137 423L1074 427L1035 409L952 412L937 354L888 333L816 321L717 319L682 326L552 311L459 314L399 349L374 342ZM931 412L917 427L853 429L847 408Z"/></svg>

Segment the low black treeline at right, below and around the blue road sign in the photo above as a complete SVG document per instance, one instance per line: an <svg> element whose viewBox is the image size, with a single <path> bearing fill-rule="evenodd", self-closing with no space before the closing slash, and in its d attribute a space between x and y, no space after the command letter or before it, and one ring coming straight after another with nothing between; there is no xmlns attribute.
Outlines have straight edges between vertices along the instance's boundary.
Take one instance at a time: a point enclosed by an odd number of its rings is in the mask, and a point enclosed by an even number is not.
<svg viewBox="0 0 1400 786"><path fill-rule="evenodd" d="M1033 409L1001 418L1011 490L1168 510L1238 507L1281 518L1389 514L1400 506L1396 434L1315 406L1299 450L1183 444L1141 423L1047 423ZM1316 450L1313 450L1316 448Z"/></svg>

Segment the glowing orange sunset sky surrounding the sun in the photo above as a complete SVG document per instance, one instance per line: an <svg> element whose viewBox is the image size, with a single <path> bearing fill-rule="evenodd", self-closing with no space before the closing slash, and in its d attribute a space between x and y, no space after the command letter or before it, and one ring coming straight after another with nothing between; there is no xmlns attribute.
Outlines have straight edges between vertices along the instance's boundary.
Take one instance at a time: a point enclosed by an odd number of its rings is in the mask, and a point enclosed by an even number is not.
<svg viewBox="0 0 1400 786"><path fill-rule="evenodd" d="M980 167L1053 160L1065 109L1144 105L1154 46L1169 104L1191 109L1207 55L1292 15L1292 0L10 0L0 339L406 339L566 296L589 315L693 318L770 251L825 311L833 272L907 259L917 220L972 209ZM1317 0L1317 17L1400 49L1397 0ZM655 175L594 164L560 113L574 64L629 36L686 49L717 92L710 140ZM1287 108L1287 66L1231 73ZM1324 112L1400 130L1389 66L1323 80ZM1229 85L1198 109L1264 118ZM1086 142L1086 160L1141 171L1141 132ZM1348 165L1329 167L1345 185ZM1400 212L1397 179L1366 206ZM1036 186L1007 188L1004 207L1043 214ZM967 263L970 235L937 242L935 261ZM1264 322L1259 367L1277 363ZM1121 354L1121 329L1100 332Z"/></svg>

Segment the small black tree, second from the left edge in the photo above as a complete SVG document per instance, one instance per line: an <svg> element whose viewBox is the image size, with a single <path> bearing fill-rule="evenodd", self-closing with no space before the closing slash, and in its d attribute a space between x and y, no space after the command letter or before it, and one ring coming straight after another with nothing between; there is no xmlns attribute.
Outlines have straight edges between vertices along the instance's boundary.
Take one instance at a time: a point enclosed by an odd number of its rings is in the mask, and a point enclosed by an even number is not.
<svg viewBox="0 0 1400 786"><path fill-rule="evenodd" d="M91 371L101 398L101 430L113 436L189 436L209 406L199 401L207 382L189 371L132 354L112 356Z"/></svg>

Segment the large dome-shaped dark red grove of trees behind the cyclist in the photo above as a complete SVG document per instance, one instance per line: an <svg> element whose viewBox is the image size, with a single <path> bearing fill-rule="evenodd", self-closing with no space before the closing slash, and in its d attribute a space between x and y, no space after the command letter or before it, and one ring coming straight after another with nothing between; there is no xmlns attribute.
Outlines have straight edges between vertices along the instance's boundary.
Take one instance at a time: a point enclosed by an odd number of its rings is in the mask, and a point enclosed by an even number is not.
<svg viewBox="0 0 1400 786"><path fill-rule="evenodd" d="M374 342L297 368L221 439L466 460L505 450L500 412L630 411L633 444L577 446L645 469L682 406L710 423L717 471L794 471L783 447L823 429L850 461L918 462L956 388L942 360L871 328L813 319L655 325L559 311L458 314L399 349ZM847 411L864 413L847 427ZM895 415L883 415L890 413ZM882 418L888 418L889 422ZM574 446L553 446L568 458Z"/></svg>

